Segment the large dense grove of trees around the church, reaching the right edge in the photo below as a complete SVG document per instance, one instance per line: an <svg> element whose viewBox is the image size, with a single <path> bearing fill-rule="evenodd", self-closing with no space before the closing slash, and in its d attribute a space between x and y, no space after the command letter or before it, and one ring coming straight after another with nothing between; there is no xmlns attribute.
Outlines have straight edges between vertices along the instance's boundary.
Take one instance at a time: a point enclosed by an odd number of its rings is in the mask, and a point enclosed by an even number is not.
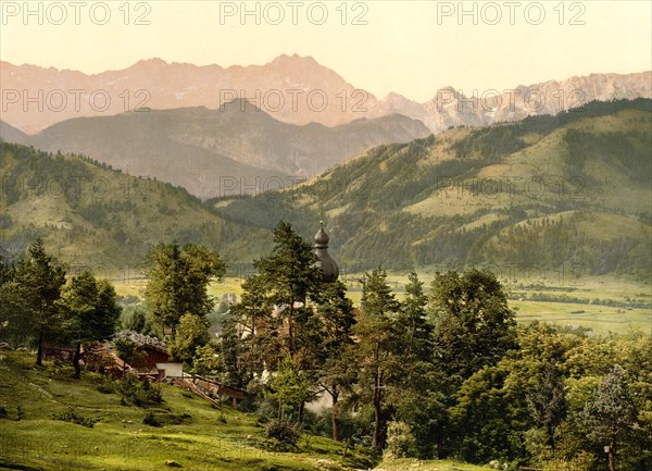
<svg viewBox="0 0 652 471"><path fill-rule="evenodd" d="M428 294L413 273L399 300L376 269L354 309L291 226L280 223L274 243L218 340L188 358L246 388L259 411L308 426L305 404L325 396L321 432L394 456L649 468L649 335L518 329L501 284L477 270L438 274Z"/></svg>

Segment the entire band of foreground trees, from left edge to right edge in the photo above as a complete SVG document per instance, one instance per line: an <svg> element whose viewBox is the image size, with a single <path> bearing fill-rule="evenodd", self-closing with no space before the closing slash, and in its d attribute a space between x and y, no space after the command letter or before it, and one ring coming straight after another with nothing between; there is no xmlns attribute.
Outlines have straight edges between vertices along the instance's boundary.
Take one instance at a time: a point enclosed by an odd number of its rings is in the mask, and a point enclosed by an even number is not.
<svg viewBox="0 0 652 471"><path fill-rule="evenodd" d="M650 469L649 333L517 327L500 282L478 270L437 274L428 292L412 273L398 299L378 268L365 274L355 309L315 261L280 222L273 251L211 336L206 287L224 275L223 261L202 247L161 244L150 251L147 315L134 327L165 335L193 372L247 389L248 406L286 432L303 425L391 456L504 469ZM79 346L113 333L111 285L89 273L66 283L41 240L0 267L2 337ZM305 411L319 397L330 402L327 421Z"/></svg>

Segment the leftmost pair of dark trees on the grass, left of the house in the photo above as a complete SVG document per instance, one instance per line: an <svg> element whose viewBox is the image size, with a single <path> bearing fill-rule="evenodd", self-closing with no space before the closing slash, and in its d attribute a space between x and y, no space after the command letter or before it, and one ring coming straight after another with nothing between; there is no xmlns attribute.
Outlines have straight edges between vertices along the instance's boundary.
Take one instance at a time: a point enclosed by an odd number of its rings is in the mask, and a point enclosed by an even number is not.
<svg viewBox="0 0 652 471"><path fill-rule="evenodd" d="M0 335L13 344L35 344L37 365L42 363L43 343L65 343L75 347L79 377L82 345L109 338L120 313L111 283L90 272L66 283L65 269L46 252L40 238L17 263L0 263Z"/></svg>

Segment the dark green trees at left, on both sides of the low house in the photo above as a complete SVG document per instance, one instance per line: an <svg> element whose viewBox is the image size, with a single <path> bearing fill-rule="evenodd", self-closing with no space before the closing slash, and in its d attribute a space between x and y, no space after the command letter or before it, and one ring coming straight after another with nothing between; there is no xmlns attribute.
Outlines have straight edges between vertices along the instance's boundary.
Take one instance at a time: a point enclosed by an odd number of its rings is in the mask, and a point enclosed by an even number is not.
<svg viewBox="0 0 652 471"><path fill-rule="evenodd" d="M206 315L214 302L206 288L224 275L225 265L217 253L191 244L183 248L160 244L149 258L148 311L121 320L122 308L108 280L98 280L89 271L66 280L64 265L37 238L16 263L0 259L0 339L36 347L37 365L42 364L43 344L73 346L79 377L85 344L108 340L121 327L160 337L170 329L173 358L190 363L196 350L209 343ZM116 342L127 361L138 357L137 347Z"/></svg>

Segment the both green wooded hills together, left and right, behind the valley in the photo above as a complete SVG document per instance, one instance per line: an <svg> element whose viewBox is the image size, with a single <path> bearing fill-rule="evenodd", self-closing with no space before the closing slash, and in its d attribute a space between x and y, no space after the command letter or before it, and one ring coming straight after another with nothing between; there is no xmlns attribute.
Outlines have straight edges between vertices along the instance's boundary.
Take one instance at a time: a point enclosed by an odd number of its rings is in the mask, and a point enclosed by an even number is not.
<svg viewBox="0 0 652 471"><path fill-rule="evenodd" d="M0 239L14 255L40 235L71 264L137 267L172 240L244 263L269 250L278 220L309 239L323 219L344 272L490 265L534 284L649 281L651 144L652 100L591 102L380 145L301 184L203 203L88 158L1 144Z"/></svg>

